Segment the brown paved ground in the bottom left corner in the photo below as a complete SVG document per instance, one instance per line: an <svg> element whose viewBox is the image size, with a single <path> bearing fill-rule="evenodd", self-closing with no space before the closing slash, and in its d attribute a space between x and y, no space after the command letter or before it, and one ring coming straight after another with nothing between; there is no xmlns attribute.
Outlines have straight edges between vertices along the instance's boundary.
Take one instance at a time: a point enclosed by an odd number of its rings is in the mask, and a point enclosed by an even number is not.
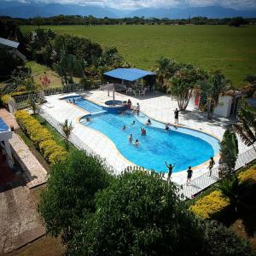
<svg viewBox="0 0 256 256"><path fill-rule="evenodd" d="M0 193L0 254L9 253L45 234L37 205L23 186Z"/></svg>

